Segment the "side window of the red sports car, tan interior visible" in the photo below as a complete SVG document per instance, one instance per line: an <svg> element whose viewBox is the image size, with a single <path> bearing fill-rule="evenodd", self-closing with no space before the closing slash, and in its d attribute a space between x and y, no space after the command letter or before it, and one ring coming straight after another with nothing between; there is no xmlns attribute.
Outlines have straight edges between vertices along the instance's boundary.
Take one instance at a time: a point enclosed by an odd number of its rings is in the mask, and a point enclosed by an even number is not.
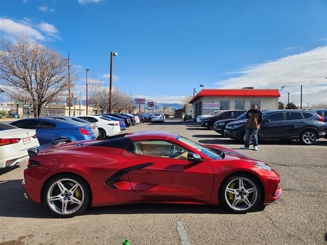
<svg viewBox="0 0 327 245"><path fill-rule="evenodd" d="M141 140L133 143L134 154L188 160L189 151L168 141Z"/></svg>

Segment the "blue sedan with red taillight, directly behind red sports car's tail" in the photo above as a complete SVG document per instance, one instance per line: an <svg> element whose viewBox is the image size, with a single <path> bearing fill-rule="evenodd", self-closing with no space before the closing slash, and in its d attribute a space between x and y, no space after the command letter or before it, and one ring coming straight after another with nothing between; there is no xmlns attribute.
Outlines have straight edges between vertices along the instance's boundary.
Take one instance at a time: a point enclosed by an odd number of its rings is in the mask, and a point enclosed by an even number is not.
<svg viewBox="0 0 327 245"><path fill-rule="evenodd" d="M61 119L27 118L11 122L11 125L22 129L35 129L40 145L58 139L71 139L73 141L96 139L90 126L81 126Z"/></svg>

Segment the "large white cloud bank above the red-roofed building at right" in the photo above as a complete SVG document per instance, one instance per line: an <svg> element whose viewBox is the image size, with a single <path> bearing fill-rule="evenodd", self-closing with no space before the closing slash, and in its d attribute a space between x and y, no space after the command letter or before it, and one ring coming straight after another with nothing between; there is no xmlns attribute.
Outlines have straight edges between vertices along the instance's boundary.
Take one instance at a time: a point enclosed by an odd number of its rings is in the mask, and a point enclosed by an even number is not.
<svg viewBox="0 0 327 245"><path fill-rule="evenodd" d="M321 46L297 55L253 65L237 71L238 77L216 83L222 88L278 88L286 86L281 92L281 100L300 103L300 85L303 85L303 103L327 103L327 46Z"/></svg>

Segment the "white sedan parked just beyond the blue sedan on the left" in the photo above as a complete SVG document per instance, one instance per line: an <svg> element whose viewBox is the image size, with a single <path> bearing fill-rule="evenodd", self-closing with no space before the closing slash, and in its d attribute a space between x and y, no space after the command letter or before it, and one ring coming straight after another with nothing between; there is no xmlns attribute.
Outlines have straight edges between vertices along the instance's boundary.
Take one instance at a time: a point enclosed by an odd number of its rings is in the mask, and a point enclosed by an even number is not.
<svg viewBox="0 0 327 245"><path fill-rule="evenodd" d="M119 125L119 121L114 121L107 117L96 115L77 117L89 122L95 122L97 124L99 129L98 139L103 139L106 136L119 134L121 132L121 126Z"/></svg>

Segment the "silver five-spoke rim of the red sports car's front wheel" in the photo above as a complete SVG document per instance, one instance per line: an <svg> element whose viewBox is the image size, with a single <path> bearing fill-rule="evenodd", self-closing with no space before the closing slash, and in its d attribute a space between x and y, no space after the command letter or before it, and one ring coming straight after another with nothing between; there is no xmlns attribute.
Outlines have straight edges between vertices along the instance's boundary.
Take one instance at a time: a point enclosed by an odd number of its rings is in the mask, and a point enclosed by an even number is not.
<svg viewBox="0 0 327 245"><path fill-rule="evenodd" d="M227 205L236 211L250 209L258 199L256 185L247 178L235 178L227 184L225 200Z"/></svg>

